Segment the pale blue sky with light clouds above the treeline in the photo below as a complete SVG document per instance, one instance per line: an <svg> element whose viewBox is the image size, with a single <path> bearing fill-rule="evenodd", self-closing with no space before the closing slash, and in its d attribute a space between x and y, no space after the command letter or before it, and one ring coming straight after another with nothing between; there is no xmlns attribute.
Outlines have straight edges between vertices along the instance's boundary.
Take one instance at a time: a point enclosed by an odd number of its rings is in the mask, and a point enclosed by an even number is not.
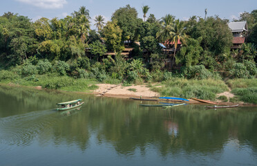
<svg viewBox="0 0 257 166"><path fill-rule="evenodd" d="M222 19L237 19L242 12L251 12L257 9L256 0L0 0L0 15L4 12L14 12L27 16L36 21L41 17L62 19L72 12L79 10L80 6L86 6L92 18L91 28L95 29L93 19L97 15L103 15L105 21L110 21L115 10L129 4L142 18L142 6L149 6L150 14L157 19L167 14L174 15L176 19L187 20L193 15L204 17L207 8L207 17L218 15Z"/></svg>

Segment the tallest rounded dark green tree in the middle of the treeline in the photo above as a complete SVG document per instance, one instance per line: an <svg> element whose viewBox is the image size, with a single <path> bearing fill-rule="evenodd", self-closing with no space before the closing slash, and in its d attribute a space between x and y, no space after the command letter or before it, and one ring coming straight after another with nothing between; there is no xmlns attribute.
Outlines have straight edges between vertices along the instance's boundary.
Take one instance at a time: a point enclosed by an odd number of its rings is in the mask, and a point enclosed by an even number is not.
<svg viewBox="0 0 257 166"><path fill-rule="evenodd" d="M117 21L117 26L122 29L122 41L134 40L136 38L136 30L138 26L137 10L126 5L124 8L119 8L113 13L112 21Z"/></svg>

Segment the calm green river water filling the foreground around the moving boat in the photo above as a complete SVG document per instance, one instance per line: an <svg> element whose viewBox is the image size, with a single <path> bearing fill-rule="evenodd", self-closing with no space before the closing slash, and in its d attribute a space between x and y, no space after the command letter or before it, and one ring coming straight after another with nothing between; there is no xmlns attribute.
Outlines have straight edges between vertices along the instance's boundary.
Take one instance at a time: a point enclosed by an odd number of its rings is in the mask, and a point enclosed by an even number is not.
<svg viewBox="0 0 257 166"><path fill-rule="evenodd" d="M257 107L139 104L0 86L0 165L257 165Z"/></svg>

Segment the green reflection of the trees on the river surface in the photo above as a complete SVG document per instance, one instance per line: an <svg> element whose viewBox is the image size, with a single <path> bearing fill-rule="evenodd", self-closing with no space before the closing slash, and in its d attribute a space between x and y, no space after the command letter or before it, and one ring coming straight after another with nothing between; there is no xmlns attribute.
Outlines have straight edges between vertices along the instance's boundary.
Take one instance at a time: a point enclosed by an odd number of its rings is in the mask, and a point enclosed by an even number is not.
<svg viewBox="0 0 257 166"><path fill-rule="evenodd" d="M51 110L55 103L74 98L87 102L79 110ZM4 145L53 143L86 151L95 136L97 146L111 145L121 156L137 151L145 156L150 149L163 158L194 154L220 159L232 146L232 153L249 149L248 158L257 157L255 107L205 110L186 105L164 110L139 107L140 102L132 100L6 86L0 86L0 99L0 144Z"/></svg>

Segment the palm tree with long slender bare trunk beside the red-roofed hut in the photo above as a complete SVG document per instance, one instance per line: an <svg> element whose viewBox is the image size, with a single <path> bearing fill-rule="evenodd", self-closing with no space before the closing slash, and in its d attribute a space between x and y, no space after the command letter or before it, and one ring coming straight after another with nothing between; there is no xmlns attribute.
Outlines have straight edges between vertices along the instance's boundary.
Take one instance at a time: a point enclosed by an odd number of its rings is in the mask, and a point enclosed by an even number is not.
<svg viewBox="0 0 257 166"><path fill-rule="evenodd" d="M174 55L172 60L172 65L175 58L175 50L178 47L178 41L180 40L183 44L186 44L187 35L184 33L184 23L177 19L169 32L169 42L174 44Z"/></svg>

